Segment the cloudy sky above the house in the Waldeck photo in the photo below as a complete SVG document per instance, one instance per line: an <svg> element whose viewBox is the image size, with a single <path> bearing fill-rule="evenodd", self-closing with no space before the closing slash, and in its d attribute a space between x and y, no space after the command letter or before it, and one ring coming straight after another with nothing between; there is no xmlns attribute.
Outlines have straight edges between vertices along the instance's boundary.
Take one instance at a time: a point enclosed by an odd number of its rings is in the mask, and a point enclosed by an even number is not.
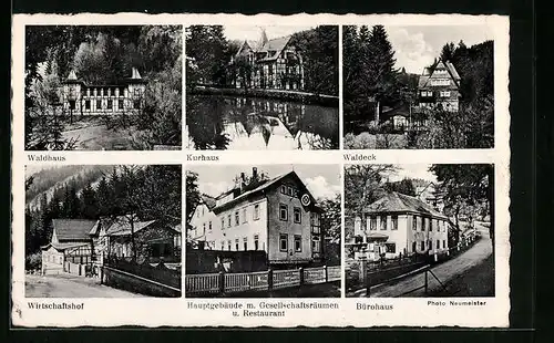
<svg viewBox="0 0 554 343"><path fill-rule="evenodd" d="M469 48L473 44L493 40L488 25L413 25L384 27L394 50L397 67L406 67L408 73L421 74L441 53L449 42L455 45L463 40Z"/></svg>

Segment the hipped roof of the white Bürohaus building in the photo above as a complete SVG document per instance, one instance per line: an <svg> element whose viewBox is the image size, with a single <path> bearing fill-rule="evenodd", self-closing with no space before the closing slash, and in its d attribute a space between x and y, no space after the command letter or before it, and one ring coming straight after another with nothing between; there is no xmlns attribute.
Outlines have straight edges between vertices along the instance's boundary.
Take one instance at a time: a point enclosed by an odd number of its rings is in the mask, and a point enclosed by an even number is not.
<svg viewBox="0 0 554 343"><path fill-rule="evenodd" d="M388 193L380 199L368 205L365 211L369 214L379 214L379 212L423 214L441 219L447 219L447 216L434 210L431 206L421 201L420 199L396 191Z"/></svg>

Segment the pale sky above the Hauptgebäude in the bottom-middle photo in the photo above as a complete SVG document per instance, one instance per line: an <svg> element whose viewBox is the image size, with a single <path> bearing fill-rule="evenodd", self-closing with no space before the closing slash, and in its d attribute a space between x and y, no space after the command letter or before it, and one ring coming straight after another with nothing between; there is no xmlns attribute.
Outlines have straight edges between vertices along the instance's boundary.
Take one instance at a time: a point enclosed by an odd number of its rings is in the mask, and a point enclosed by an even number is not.
<svg viewBox="0 0 554 343"><path fill-rule="evenodd" d="M295 170L316 199L334 198L341 190L338 165L227 165L191 166L188 169L198 174L201 193L218 196L234 186L233 179L242 172L252 175L253 167L257 167L258 173L267 173L270 178Z"/></svg>

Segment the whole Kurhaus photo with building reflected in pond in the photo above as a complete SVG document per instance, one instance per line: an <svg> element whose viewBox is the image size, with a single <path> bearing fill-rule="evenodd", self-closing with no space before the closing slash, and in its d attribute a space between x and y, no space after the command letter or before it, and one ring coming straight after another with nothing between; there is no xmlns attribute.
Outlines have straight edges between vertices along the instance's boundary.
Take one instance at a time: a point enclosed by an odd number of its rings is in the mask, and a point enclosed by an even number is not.
<svg viewBox="0 0 554 343"><path fill-rule="evenodd" d="M191 25L187 149L339 148L338 25Z"/></svg>

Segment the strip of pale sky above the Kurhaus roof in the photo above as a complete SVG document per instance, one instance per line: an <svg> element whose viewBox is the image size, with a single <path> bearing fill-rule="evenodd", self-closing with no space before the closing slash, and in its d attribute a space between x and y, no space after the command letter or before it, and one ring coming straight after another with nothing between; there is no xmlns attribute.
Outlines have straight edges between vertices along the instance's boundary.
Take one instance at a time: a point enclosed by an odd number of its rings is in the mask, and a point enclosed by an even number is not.
<svg viewBox="0 0 554 343"><path fill-rule="evenodd" d="M261 29L266 29L267 39L271 40L289 35L296 32L314 29L309 25L225 25L223 27L225 37L228 40L239 41L259 41L261 37Z"/></svg>

